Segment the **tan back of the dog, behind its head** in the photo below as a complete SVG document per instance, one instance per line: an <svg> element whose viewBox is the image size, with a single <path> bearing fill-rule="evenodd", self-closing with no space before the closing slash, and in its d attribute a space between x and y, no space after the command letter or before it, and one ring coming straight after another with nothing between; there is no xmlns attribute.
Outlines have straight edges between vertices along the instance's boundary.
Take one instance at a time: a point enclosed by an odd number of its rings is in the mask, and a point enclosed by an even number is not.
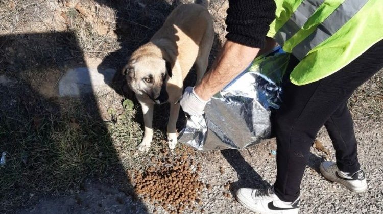
<svg viewBox="0 0 383 214"><path fill-rule="evenodd" d="M173 10L151 41L157 46L168 43L168 53L173 55L172 58L177 58L185 78L200 49L210 49L213 38L213 22L207 8L200 4L183 4ZM169 41L173 45L169 45ZM171 46L174 48L170 48Z"/></svg>

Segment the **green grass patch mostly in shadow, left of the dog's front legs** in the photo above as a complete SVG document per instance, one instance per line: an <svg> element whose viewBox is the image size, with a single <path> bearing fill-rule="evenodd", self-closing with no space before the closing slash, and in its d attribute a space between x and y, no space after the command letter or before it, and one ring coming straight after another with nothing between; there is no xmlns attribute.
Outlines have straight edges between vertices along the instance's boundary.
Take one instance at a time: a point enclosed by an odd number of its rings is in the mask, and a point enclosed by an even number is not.
<svg viewBox="0 0 383 214"><path fill-rule="evenodd" d="M22 105L0 110L0 151L7 153L0 207L17 206L30 193L76 192L85 178L139 167L147 156L131 155L142 136L133 109L109 122L76 99L34 104L39 110L30 114Z"/></svg>

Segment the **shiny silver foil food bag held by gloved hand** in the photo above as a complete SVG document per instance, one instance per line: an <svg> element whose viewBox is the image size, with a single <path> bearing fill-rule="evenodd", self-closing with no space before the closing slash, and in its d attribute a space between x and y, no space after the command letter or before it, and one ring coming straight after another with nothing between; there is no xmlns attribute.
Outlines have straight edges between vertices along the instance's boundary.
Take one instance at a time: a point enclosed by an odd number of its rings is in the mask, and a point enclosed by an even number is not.
<svg viewBox="0 0 383 214"><path fill-rule="evenodd" d="M178 141L198 150L242 149L270 137L270 108L279 108L289 55L280 47L211 98L202 116L189 116Z"/></svg>

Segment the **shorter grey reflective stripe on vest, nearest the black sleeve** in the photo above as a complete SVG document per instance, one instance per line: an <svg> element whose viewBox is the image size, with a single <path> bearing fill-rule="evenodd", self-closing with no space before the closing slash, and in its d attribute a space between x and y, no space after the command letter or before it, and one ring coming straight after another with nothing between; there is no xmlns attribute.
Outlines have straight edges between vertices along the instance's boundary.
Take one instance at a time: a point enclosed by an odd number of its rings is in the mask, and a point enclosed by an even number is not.
<svg viewBox="0 0 383 214"><path fill-rule="evenodd" d="M305 0L291 15L291 18L278 30L275 41L283 46L284 41L296 34L325 0Z"/></svg>

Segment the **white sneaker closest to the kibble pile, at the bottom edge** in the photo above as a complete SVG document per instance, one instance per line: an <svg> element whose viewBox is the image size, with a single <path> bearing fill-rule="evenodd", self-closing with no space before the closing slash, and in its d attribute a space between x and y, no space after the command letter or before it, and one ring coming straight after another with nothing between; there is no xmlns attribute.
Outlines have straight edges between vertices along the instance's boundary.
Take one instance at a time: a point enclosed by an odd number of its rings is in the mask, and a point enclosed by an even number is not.
<svg viewBox="0 0 383 214"><path fill-rule="evenodd" d="M236 198L244 207L261 214L297 214L299 211L299 198L294 202L281 201L273 186L268 189L241 188Z"/></svg>

